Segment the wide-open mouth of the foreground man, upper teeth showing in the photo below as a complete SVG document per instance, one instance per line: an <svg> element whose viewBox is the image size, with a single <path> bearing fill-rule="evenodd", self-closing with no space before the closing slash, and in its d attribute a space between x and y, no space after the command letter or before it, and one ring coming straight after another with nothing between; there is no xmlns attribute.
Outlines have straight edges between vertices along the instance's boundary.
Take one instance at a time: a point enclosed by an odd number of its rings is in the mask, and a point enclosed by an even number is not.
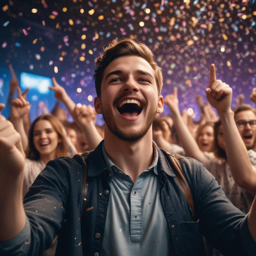
<svg viewBox="0 0 256 256"><path fill-rule="evenodd" d="M143 106L137 99L125 99L117 105L117 110L124 116L137 116L141 113Z"/></svg>

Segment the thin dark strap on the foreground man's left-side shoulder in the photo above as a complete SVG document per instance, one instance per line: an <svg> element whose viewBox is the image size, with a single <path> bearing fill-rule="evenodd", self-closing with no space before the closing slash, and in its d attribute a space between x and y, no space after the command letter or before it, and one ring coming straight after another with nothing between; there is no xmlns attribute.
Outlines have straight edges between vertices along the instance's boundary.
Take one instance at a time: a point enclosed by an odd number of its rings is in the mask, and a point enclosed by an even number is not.
<svg viewBox="0 0 256 256"><path fill-rule="evenodd" d="M86 202L86 196L87 196L87 190L88 186L86 186L86 180L87 180L87 164L85 160L88 158L91 151L85 151L83 153L78 153L73 156L73 159L76 160L83 168L83 182L82 182L82 211L81 216L83 213L83 210L85 208L85 202ZM81 219L81 218L80 218Z"/></svg>

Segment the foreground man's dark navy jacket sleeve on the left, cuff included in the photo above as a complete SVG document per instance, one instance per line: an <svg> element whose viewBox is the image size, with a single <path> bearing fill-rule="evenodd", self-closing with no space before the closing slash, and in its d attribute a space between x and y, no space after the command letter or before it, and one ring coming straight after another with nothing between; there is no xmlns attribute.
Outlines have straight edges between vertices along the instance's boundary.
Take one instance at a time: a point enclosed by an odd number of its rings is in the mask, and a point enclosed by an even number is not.
<svg viewBox="0 0 256 256"><path fill-rule="evenodd" d="M24 197L26 224L13 239L0 243L0 255L42 255L61 227L69 190L67 164L49 161Z"/></svg>

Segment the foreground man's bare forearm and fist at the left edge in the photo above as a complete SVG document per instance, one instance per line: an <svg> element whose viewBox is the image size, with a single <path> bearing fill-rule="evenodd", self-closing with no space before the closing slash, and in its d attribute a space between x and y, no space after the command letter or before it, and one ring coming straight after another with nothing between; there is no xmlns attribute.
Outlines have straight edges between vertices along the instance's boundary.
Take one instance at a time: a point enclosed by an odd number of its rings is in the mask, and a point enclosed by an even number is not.
<svg viewBox="0 0 256 256"><path fill-rule="evenodd" d="M3 107L0 104L0 111ZM19 133L0 115L0 242L14 238L25 225L24 156Z"/></svg>

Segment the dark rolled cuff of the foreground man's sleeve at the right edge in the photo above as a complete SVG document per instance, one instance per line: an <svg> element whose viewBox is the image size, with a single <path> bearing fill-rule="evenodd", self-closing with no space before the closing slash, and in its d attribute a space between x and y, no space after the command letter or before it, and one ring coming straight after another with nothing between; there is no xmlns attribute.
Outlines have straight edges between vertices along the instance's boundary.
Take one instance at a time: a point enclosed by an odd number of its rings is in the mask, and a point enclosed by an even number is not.
<svg viewBox="0 0 256 256"><path fill-rule="evenodd" d="M241 222L240 237L247 255L256 255L256 242L253 240L248 228L248 214Z"/></svg>

